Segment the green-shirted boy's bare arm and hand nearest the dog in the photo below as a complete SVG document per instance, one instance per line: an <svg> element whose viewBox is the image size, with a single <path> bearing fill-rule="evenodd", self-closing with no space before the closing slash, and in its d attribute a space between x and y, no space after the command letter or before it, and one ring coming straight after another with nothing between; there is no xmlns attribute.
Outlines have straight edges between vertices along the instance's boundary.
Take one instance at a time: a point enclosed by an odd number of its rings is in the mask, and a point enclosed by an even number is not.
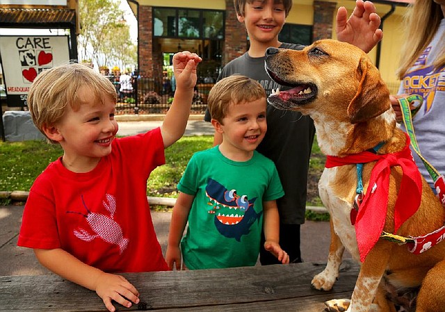
<svg viewBox="0 0 445 312"><path fill-rule="evenodd" d="M264 249L277 257L283 264L289 263L289 254L280 247L280 216L278 215L277 202L270 200L263 202L264 211Z"/></svg>

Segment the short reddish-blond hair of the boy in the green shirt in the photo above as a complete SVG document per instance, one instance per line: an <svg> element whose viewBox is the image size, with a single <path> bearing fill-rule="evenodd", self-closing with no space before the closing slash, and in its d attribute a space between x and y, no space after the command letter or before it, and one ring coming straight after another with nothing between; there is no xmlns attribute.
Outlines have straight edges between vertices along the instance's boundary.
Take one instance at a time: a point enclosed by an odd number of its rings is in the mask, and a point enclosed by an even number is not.
<svg viewBox="0 0 445 312"><path fill-rule="evenodd" d="M261 84L247 76L232 75L218 81L209 92L207 104L211 118L223 124L230 104L243 104L266 98Z"/></svg>

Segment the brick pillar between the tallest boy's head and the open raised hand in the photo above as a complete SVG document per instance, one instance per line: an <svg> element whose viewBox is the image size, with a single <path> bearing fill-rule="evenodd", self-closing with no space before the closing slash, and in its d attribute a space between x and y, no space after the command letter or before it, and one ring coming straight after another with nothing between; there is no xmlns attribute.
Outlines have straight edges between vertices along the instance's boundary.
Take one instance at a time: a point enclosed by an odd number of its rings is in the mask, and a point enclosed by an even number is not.
<svg viewBox="0 0 445 312"><path fill-rule="evenodd" d="M314 1L314 27L312 38L330 39L332 38L332 19L337 3Z"/></svg>

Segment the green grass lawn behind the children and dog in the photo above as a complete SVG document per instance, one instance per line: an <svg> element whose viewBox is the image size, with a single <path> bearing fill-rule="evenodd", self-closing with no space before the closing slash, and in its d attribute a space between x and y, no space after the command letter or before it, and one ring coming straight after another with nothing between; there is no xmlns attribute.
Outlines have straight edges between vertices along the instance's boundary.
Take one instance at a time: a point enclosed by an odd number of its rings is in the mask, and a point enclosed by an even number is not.
<svg viewBox="0 0 445 312"><path fill-rule="evenodd" d="M177 183L186 165L196 151L212 146L213 136L188 136L181 138L165 150L165 165L157 167L150 174L147 195L154 197L177 197ZM0 142L0 191L29 191L34 179L52 161L63 154L59 145L45 141ZM309 162L308 202L309 206L323 206L318 197L318 179L323 172L325 156L321 154L316 142L312 147ZM2 199L0 204L10 204ZM165 207L154 207L165 209ZM326 216L309 213L311 220L325 220Z"/></svg>

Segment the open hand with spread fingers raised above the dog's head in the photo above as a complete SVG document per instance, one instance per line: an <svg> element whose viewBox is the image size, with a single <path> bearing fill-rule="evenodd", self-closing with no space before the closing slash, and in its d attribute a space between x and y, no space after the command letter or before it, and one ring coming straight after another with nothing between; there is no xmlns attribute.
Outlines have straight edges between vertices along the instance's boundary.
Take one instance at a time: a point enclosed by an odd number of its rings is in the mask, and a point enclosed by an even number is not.
<svg viewBox="0 0 445 312"><path fill-rule="evenodd" d="M341 6L337 11L337 39L359 47L366 53L382 40L380 17L371 1L357 0L354 12L348 19L348 11Z"/></svg>

